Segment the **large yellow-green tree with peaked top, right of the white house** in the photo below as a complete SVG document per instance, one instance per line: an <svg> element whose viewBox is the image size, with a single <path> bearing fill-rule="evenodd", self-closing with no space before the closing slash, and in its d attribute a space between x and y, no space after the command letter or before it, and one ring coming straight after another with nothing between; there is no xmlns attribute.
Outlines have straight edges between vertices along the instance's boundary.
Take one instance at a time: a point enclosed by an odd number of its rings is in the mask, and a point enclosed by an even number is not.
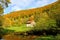
<svg viewBox="0 0 60 40"><path fill-rule="evenodd" d="M56 27L56 20L50 18L48 14L45 12L38 18L38 21L36 23L36 30L43 30L43 29L49 29L52 27Z"/></svg>

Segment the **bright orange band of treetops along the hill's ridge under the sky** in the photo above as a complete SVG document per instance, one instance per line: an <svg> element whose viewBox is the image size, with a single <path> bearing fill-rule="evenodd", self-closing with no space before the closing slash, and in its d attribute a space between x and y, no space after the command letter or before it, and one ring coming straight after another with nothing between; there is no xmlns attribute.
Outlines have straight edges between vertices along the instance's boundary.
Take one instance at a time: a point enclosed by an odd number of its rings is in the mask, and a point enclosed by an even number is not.
<svg viewBox="0 0 60 40"><path fill-rule="evenodd" d="M59 3L59 0L52 3L52 4L43 6L43 7L38 7L38 8L34 8L34 9L27 9L27 10L20 10L20 11L14 11L14 12L5 14L4 16L9 17L9 16L12 16L14 13L19 15L21 13L29 13L29 12L32 12L32 11L35 12L35 11L38 11L38 10L40 12L43 12L43 10L50 9L52 6L54 6L54 5L58 4L58 3Z"/></svg>

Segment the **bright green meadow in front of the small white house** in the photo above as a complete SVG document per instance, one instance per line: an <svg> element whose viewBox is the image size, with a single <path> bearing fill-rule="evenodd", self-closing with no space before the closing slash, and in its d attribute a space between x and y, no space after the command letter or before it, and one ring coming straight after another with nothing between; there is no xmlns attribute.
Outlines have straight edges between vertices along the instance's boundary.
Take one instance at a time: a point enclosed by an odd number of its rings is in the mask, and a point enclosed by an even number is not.
<svg viewBox="0 0 60 40"><path fill-rule="evenodd" d="M26 27L26 25L21 25L21 26L11 26L11 27L6 27L4 29L8 30L14 30L15 32L26 32L29 30L32 30L32 27Z"/></svg>

